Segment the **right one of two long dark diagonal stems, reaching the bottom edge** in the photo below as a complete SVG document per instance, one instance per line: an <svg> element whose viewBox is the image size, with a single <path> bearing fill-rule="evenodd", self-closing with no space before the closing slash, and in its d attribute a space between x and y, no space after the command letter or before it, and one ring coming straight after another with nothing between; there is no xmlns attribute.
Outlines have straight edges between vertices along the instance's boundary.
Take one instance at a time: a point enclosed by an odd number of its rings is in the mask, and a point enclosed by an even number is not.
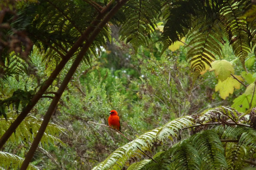
<svg viewBox="0 0 256 170"><path fill-rule="evenodd" d="M94 41L94 39L96 38L96 36L98 35L98 33L100 33L101 29L106 25L106 23L116 14L116 12L119 10L119 8L121 8L128 0L122 0L120 1L119 4L115 5L108 13L107 15L102 19L102 21L97 25L97 27L94 28L94 31L91 33L88 41L83 45L80 53L78 54L78 56L76 57L74 63L72 64L71 68L69 69L68 73L66 74L66 77L64 78L62 84L60 85L59 89L58 89L58 95L55 95L55 97L52 100L52 103L50 104L48 111L46 112L45 116L44 116L44 120L38 130L38 133L36 135L36 137L34 138L34 141L25 157L24 162L21 165L20 170L26 170L29 163L31 162L31 159L34 155L34 152L37 149L37 146L39 144L39 142L41 141L41 138L44 134L44 131L46 130L46 127L50 121L50 118L52 117L52 114L60 100L61 95L63 94L64 90L66 89L66 86L68 85L70 79L72 78L73 74L76 71L76 68L79 66L80 62L82 61L82 58L84 57L86 51L89 49L89 47L91 46L92 42Z"/></svg>

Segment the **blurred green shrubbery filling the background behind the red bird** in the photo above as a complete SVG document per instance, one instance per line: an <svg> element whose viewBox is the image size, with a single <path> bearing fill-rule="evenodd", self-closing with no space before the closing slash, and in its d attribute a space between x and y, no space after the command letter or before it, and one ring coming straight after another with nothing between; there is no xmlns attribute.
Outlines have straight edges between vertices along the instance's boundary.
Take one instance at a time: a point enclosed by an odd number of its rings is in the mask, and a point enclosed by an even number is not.
<svg viewBox="0 0 256 170"><path fill-rule="evenodd" d="M225 100L215 92L213 72L200 76L192 87L192 72L186 62L189 47L178 46L175 51L167 50L160 56L162 45L159 42L160 31L152 34L147 47L140 47L134 53L132 47L119 41L118 29L112 28L112 43L101 49L101 55L90 65L82 62L76 70L66 91L58 104L51 122L66 128L69 133L61 134L58 142L40 146L34 155L33 164L40 169L91 169L103 161L115 149L127 143L126 139L116 132L88 124L87 121L106 124L108 113L116 109L121 117L124 135L134 139L136 135L159 127L170 120L187 114L202 112L205 109L220 105L231 106L234 98L244 92L245 87L235 90ZM243 68L240 61L228 45L223 48L223 59L235 66L239 75ZM19 81L8 77L2 81L5 95L10 97L18 89L35 90L48 77L45 70L42 52L33 47L30 55L36 74L23 74ZM58 79L48 90L58 89L72 61L66 64ZM249 70L255 72L255 64ZM9 94L9 96L6 96ZM52 94L42 98L32 114L42 118L46 113ZM188 134L183 132L182 137ZM176 139L177 140L177 139ZM177 141L168 141L158 147L170 148ZM24 157L28 143L7 142L3 151ZM153 153L154 155L154 153Z"/></svg>

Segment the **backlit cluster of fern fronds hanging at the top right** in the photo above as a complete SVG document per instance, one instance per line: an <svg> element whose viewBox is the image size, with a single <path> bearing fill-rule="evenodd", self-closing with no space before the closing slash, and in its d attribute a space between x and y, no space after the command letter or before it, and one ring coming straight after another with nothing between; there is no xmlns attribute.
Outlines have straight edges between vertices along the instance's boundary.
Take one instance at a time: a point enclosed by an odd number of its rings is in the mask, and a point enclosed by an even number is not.
<svg viewBox="0 0 256 170"><path fill-rule="evenodd" d="M187 36L190 47L187 60L190 60L191 68L194 70L194 82L206 69L206 65L211 65L215 55L222 56L221 44L225 44L226 37L235 56L239 57L245 68L245 58L255 45L254 21L248 21L243 17L243 11L249 5L246 0L174 2L162 34L162 50Z"/></svg>

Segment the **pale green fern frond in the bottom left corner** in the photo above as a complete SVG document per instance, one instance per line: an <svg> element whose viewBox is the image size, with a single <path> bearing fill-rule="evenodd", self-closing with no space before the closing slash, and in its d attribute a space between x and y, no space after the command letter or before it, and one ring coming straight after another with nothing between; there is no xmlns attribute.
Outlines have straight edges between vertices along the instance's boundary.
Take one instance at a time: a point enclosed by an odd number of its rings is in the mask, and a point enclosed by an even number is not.
<svg viewBox="0 0 256 170"><path fill-rule="evenodd" d="M0 168L2 169L9 169L10 167L19 169L23 161L24 159L17 155L0 151ZM39 170L39 168L30 163L27 170Z"/></svg>

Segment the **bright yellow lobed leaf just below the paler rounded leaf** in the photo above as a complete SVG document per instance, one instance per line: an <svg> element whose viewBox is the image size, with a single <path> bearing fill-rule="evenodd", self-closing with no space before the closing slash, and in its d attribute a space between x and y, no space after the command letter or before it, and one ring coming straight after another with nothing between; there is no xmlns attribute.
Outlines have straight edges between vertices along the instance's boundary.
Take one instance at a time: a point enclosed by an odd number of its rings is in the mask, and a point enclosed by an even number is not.
<svg viewBox="0 0 256 170"><path fill-rule="evenodd" d="M235 75L236 78L242 81L242 78L238 75ZM220 97L225 99L229 94L233 94L234 88L240 89L241 83L233 77L228 77L224 81L218 80L218 84L215 86L215 91L219 91Z"/></svg>

